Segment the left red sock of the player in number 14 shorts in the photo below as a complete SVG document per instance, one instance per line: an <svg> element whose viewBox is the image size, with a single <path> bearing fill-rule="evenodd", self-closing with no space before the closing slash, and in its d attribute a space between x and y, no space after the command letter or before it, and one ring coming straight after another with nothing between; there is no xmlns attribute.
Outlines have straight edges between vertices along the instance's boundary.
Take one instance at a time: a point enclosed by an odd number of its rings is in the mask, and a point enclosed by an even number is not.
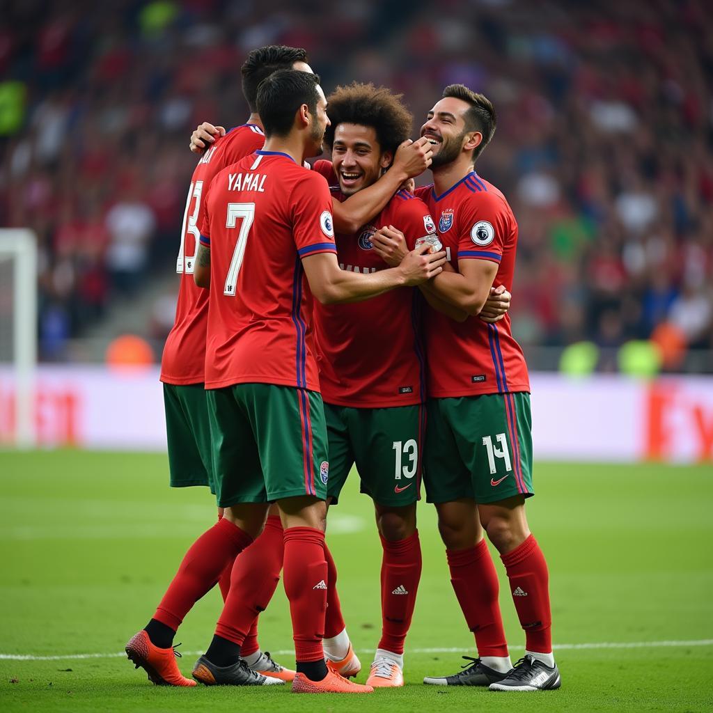
<svg viewBox="0 0 713 713"><path fill-rule="evenodd" d="M476 637L478 656L508 656L508 642L498 604L498 575L488 544L468 550L446 550L451 584L468 628Z"/></svg>

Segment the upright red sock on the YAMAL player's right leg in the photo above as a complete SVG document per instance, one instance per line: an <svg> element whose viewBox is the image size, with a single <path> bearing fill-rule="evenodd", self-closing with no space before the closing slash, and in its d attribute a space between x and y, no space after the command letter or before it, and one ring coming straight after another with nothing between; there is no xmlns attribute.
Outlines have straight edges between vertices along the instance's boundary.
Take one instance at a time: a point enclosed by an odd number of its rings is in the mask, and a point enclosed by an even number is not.
<svg viewBox="0 0 713 713"><path fill-rule="evenodd" d="M327 562L322 530L304 527L284 530L284 593L289 599L297 662L321 661L327 610Z"/></svg>

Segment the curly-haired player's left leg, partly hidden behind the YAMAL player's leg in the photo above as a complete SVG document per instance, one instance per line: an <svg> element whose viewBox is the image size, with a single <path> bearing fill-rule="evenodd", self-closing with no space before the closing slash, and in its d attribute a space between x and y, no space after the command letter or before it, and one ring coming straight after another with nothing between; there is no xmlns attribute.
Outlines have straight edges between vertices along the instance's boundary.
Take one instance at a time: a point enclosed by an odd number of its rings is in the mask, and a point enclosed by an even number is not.
<svg viewBox="0 0 713 713"><path fill-rule="evenodd" d="M342 406L324 404L324 418L327 424L327 453L329 468L327 480L327 510L339 503L339 493L347 481L354 465L354 453L349 440L349 429ZM327 544L324 545L327 560L327 613L324 617L324 656L344 677L353 677L361 671L361 662L349 640L347 627L342 616L342 605L337 593L337 566Z"/></svg>

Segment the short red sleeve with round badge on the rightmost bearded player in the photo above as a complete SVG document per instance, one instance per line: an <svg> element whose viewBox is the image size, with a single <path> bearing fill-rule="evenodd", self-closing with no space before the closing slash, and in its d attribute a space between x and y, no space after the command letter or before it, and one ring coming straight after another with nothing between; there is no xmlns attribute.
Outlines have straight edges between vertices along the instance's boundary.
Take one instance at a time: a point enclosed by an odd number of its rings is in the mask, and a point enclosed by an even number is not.
<svg viewBox="0 0 713 713"><path fill-rule="evenodd" d="M498 264L510 235L510 220L503 200L476 193L459 216L458 260L491 260Z"/></svg>

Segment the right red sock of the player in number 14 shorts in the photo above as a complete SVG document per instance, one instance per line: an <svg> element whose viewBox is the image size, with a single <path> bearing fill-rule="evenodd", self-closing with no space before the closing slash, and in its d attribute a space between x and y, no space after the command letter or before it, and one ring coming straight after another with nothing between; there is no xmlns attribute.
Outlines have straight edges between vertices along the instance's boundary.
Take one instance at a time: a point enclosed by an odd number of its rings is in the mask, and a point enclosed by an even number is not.
<svg viewBox="0 0 713 713"><path fill-rule="evenodd" d="M552 651L552 613L550 612L550 577L545 555L534 535L512 552L501 555L510 580L510 590L525 630L525 648L540 654Z"/></svg>

